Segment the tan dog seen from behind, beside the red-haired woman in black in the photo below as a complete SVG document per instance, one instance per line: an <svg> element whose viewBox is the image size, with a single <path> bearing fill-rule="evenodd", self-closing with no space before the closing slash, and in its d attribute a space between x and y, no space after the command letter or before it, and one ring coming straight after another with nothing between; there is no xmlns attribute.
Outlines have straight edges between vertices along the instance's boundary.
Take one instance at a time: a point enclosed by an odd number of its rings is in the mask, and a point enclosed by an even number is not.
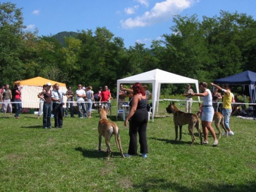
<svg viewBox="0 0 256 192"><path fill-rule="evenodd" d="M100 114L100 120L99 120L99 125L98 125L98 131L99 131L99 150L101 151L101 136L105 137L105 143L107 145L107 151L108 151L108 156L107 159L109 160L110 155L111 155L111 148L109 145L109 141L111 136L114 134L115 135L115 142L117 143L117 150L120 148L120 152L123 158L125 158L123 154L123 149L121 146L121 139L119 135L119 128L117 124L114 122L110 122L107 119L107 112L106 108L104 105L99 106L99 114ZM118 148L119 146L119 148Z"/></svg>

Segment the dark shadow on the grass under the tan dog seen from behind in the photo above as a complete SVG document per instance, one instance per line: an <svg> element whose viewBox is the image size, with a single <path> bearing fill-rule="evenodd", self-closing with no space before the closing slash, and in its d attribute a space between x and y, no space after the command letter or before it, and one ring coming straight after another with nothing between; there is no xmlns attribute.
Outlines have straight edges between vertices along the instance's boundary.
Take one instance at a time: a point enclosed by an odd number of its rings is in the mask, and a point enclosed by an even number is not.
<svg viewBox="0 0 256 192"><path fill-rule="evenodd" d="M87 158L106 158L107 157L107 151L98 152L98 150L88 150L88 149L83 149L81 147L77 147L75 148L75 150L82 152L83 156ZM112 151L110 158L113 158L115 156L121 157L121 153Z"/></svg>

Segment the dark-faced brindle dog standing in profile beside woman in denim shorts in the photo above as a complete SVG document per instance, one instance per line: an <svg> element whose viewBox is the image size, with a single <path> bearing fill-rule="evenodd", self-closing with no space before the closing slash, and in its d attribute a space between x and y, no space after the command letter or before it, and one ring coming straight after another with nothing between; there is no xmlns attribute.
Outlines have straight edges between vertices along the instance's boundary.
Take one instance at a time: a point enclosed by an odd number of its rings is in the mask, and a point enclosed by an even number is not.
<svg viewBox="0 0 256 192"><path fill-rule="evenodd" d="M168 113L173 114L173 122L175 126L175 140L178 138L178 126L179 126L179 140L181 141L181 129L183 125L188 124L188 131L192 138L191 145L194 144L195 136L194 136L194 127L198 130L198 135L200 138L200 143L203 144L202 141L202 134L200 132L200 119L196 114L193 113L184 113L182 111L179 111L178 108L175 106L174 102L172 104L169 104L169 106L166 108L166 111Z"/></svg>

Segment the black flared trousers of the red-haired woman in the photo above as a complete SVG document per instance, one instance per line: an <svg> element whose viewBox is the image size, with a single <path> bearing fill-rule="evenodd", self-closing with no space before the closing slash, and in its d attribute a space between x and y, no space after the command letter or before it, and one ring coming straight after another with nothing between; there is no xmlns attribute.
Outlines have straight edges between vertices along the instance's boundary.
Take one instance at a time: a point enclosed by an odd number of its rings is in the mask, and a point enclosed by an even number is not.
<svg viewBox="0 0 256 192"><path fill-rule="evenodd" d="M129 149L128 154L137 155L137 134L139 133L140 153L148 153L147 149L147 121L148 112L135 112L129 122Z"/></svg>

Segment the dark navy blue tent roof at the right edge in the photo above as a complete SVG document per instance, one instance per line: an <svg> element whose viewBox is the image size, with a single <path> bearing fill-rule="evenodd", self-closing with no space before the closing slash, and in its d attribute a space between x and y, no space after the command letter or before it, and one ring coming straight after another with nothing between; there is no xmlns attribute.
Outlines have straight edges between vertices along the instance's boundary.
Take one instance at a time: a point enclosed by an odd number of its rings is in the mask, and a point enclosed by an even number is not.
<svg viewBox="0 0 256 192"><path fill-rule="evenodd" d="M235 75L214 80L217 84L234 84L234 85L249 85L256 83L256 73L252 71L244 71Z"/></svg>

